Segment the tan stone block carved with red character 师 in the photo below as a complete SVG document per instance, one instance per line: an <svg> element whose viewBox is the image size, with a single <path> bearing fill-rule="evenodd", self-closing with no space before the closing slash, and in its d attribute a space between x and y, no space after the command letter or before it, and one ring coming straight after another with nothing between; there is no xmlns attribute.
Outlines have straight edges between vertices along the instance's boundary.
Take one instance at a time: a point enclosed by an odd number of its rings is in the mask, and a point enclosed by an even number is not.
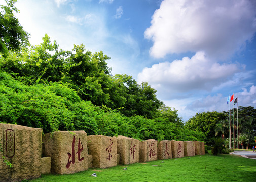
<svg viewBox="0 0 256 182"><path fill-rule="evenodd" d="M120 155L120 164L139 162L139 140L125 136L117 137L117 152Z"/></svg>

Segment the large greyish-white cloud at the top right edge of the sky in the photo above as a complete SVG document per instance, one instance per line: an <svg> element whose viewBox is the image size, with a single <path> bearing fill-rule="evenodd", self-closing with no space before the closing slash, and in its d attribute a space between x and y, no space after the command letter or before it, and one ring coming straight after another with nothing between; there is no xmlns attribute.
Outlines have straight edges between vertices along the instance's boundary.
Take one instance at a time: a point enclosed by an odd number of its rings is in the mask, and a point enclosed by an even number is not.
<svg viewBox="0 0 256 182"><path fill-rule="evenodd" d="M205 51L226 58L256 31L255 1L164 0L144 37L154 42L150 54Z"/></svg>

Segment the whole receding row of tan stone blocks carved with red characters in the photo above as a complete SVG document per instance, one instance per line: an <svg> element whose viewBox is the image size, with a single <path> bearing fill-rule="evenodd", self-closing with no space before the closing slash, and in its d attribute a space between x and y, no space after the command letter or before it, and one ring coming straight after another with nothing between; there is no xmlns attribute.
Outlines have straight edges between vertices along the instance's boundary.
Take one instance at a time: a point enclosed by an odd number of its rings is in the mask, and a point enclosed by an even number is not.
<svg viewBox="0 0 256 182"><path fill-rule="evenodd" d="M43 144L43 145L42 145ZM87 136L84 131L58 131L43 136L42 129L0 123L1 181L21 181L41 174L69 174L88 167L107 168L184 156L205 155L199 141L139 141L125 136ZM88 147L88 148L87 148ZM89 152L89 154L88 154ZM41 158L43 153L44 158Z"/></svg>

